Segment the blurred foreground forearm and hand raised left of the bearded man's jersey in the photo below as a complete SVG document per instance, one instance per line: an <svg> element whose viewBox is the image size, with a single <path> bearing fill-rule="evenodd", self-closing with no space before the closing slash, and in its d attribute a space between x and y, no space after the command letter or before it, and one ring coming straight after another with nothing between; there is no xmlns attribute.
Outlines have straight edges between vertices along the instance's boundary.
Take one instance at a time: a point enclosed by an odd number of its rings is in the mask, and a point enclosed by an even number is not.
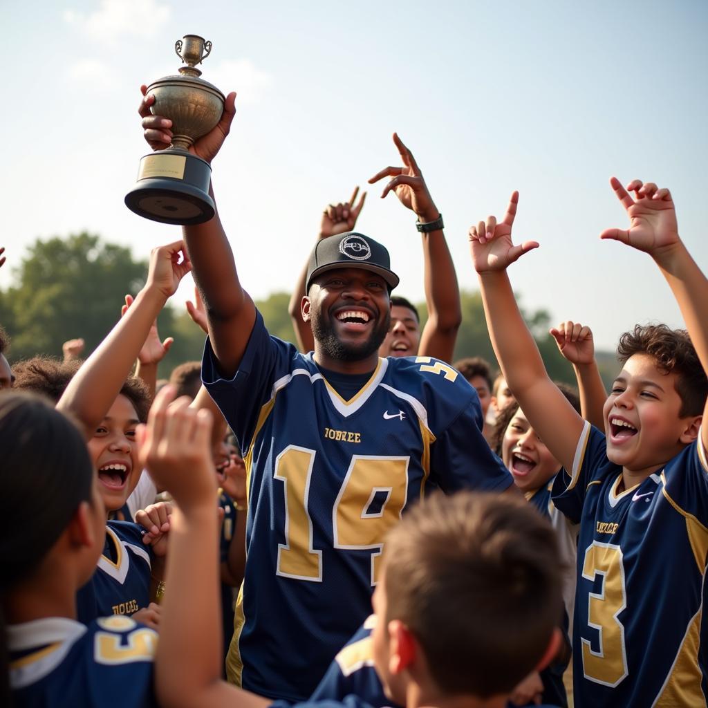
<svg viewBox="0 0 708 708"><path fill-rule="evenodd" d="M160 641L155 661L159 701L173 708L265 708L270 701L221 680L218 516L210 450L211 416L190 409L188 399L169 406L165 387L156 396L147 427L139 429L140 460L169 489L178 508L169 537ZM194 612L194 607L200 607ZM189 646L190 651L184 651Z"/></svg>

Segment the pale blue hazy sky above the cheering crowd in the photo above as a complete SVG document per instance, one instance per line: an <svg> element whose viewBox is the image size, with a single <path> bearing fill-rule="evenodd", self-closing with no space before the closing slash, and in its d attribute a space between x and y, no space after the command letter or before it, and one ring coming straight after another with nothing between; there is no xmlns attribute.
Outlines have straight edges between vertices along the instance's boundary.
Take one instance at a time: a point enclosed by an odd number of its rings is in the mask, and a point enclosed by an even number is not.
<svg viewBox="0 0 708 708"><path fill-rule="evenodd" d="M649 258L598 239L625 223L611 174L670 187L708 268L704 2L59 0L2 14L0 287L37 236L87 229L137 256L179 238L123 196L147 152L139 85L176 71L186 33L213 42L205 79L239 93L214 183L254 297L291 289L328 202L399 164L394 130L445 216L462 287L476 287L469 224L518 189L516 236L541 243L510 270L527 307L589 324L603 348L636 321L680 326ZM358 230L389 246L401 295L422 299L414 217L380 191Z"/></svg>

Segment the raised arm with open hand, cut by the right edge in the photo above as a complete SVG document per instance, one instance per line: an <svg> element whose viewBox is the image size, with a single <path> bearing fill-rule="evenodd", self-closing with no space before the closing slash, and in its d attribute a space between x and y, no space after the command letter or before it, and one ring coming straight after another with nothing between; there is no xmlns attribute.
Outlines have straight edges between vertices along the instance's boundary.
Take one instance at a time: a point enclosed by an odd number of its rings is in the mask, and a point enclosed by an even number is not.
<svg viewBox="0 0 708 708"><path fill-rule="evenodd" d="M616 177L610 185L629 216L629 229L605 229L601 239L621 241L649 253L666 278L704 371L708 371L708 280L678 235L676 210L668 189L633 180L627 189ZM629 194L634 192L636 200ZM703 420L708 415L708 400ZM708 448L708 430L702 426Z"/></svg>

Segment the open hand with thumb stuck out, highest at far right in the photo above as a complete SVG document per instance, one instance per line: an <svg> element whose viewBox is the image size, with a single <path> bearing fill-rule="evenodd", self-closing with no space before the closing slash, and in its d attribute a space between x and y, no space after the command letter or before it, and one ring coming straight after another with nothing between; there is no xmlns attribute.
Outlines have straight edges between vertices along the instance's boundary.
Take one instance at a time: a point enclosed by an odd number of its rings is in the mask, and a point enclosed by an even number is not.
<svg viewBox="0 0 708 708"><path fill-rule="evenodd" d="M643 183L638 179L632 180L625 189L616 177L610 178L610 185L627 210L630 225L629 229L605 229L600 239L622 241L646 253L656 253L680 241L676 211L668 189L659 189L653 182ZM629 192L634 192L636 201Z"/></svg>

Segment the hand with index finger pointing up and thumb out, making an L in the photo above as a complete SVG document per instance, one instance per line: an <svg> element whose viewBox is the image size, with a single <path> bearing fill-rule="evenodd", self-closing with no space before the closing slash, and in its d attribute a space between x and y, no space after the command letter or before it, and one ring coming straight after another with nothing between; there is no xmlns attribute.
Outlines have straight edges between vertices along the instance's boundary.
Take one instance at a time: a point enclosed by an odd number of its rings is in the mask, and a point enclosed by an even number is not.
<svg viewBox="0 0 708 708"><path fill-rule="evenodd" d="M514 192L506 207L503 221L497 223L496 217L489 216L486 223L481 221L476 227L469 227L469 248L477 273L506 270L524 253L538 248L537 241L524 241L523 244L514 246L511 240L511 227L518 201L519 193Z"/></svg>

